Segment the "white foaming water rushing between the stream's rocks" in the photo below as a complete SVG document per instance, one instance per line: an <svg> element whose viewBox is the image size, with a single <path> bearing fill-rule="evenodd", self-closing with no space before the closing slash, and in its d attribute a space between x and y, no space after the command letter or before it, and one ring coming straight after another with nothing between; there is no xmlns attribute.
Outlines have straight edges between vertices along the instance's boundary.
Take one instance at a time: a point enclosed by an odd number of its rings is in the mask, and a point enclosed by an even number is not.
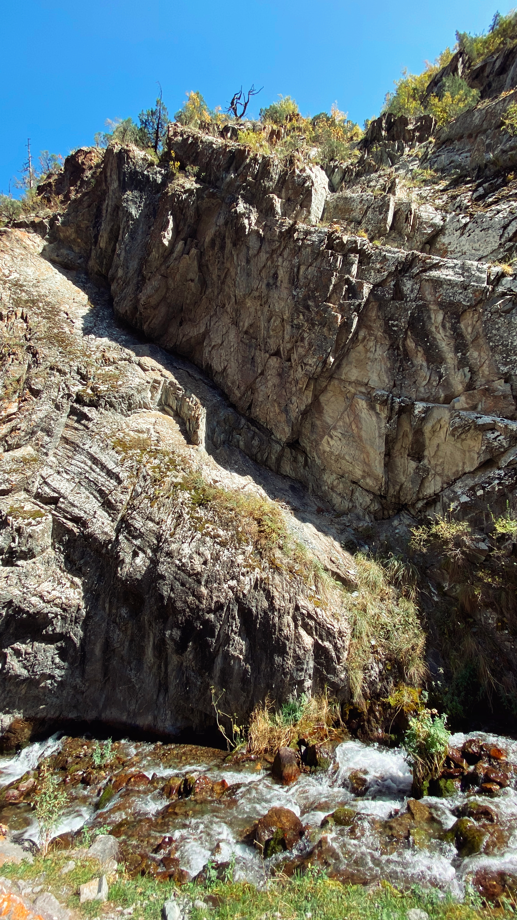
<svg viewBox="0 0 517 920"><path fill-rule="evenodd" d="M517 762L517 742L499 738L495 735L483 735L475 732L470 735L457 734L452 738L454 746L461 744L468 737L482 738L504 747L509 760ZM0 758L0 786L21 776L27 769L37 765L43 755L48 755L59 747L60 742L52 736L48 742L32 744L20 754L11 758ZM504 849L497 855L478 855L461 859L454 845L441 840L431 840L427 848L411 845L410 841L401 841L394 845L395 852L385 852L383 841L375 827L376 821L384 821L397 813L406 811L410 796L411 773L400 749L386 749L375 744L366 745L358 741L339 744L336 750L338 769L334 773L301 776L293 786L285 788L270 778L266 769L258 769L256 764L229 765L227 768L216 763L181 765L177 770L164 768L155 759L151 744L124 744L124 755L136 755L138 765L147 776L156 772L158 776L170 776L173 773L208 774L213 778L225 779L230 786L238 784L235 792L236 805L213 802L204 808L193 807L191 813L186 809L181 814L167 815L167 827L160 825L160 834L171 834L176 842L176 855L182 868L194 875L199 872L209 858L215 862L224 862L232 854L236 856L236 879L247 879L261 883L264 868L257 851L249 845L240 843L244 830L257 821L273 806L289 808L297 814L304 824L318 828L322 819L340 805L354 809L358 815L360 833L350 834L346 828L330 827L325 830L328 843L339 852L341 865L362 869L369 878L385 878L393 883L412 884L418 882L423 886L436 886L442 891L451 891L461 896L465 880L472 876L477 868L497 868L517 872L517 831ZM363 796L354 796L347 788L347 779L354 770L362 770L367 781ZM107 827L126 817L155 817L166 805L167 800L154 789L135 791L129 798L120 793L110 800L102 812L95 811L95 789L75 787L76 800L73 807L63 815L63 822L56 833L75 830L84 822L94 826L99 820L107 822ZM479 797L476 797L479 799ZM452 810L466 800L464 793L458 793L452 799L433 799L427 797L422 801L431 806L434 818L442 824L445 831L455 819ZM517 793L514 788L503 789L500 797L488 799L488 804L504 823L517 820ZM20 836L37 840L37 827L30 821ZM316 838L315 838L316 839ZM308 843L299 845L299 852L306 852ZM270 863L280 861L281 857L265 860L266 871Z"/></svg>

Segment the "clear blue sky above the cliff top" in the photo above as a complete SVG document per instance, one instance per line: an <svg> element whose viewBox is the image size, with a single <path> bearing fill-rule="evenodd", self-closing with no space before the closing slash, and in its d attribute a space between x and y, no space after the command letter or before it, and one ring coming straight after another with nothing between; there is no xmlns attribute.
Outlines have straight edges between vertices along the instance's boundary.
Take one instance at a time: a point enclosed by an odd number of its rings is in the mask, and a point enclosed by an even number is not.
<svg viewBox="0 0 517 920"><path fill-rule="evenodd" d="M512 4L499 6L508 12ZM0 191L26 157L93 144L107 118L136 120L159 80L169 114L188 90L225 107L264 86L303 114L378 114L404 66L419 72L454 33L488 29L497 0L25 0L2 5Z"/></svg>

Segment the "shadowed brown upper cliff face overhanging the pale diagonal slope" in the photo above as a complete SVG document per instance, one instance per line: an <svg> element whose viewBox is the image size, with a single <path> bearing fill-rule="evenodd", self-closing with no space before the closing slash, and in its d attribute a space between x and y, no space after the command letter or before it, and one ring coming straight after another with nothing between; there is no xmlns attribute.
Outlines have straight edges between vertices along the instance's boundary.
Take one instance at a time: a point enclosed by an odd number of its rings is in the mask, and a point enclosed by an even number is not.
<svg viewBox="0 0 517 920"><path fill-rule="evenodd" d="M49 258L84 259L118 316L221 386L257 430L238 443L249 456L339 512L439 508L472 477L497 508L517 443L513 279L403 248L430 249L431 204L424 234L412 202L419 238L400 248L316 224L323 214L359 228L367 215L389 240L407 211L404 169L390 192L381 173L372 191L323 198L320 167L281 169L178 126L169 149L197 178L109 148Z"/></svg>

